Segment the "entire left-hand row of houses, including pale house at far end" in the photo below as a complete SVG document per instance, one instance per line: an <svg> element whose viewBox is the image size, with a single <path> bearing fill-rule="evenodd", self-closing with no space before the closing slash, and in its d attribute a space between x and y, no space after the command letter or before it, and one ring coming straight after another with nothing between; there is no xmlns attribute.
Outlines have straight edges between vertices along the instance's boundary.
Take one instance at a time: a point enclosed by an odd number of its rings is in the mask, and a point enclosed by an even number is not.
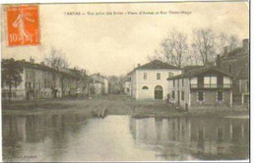
<svg viewBox="0 0 256 163"><path fill-rule="evenodd" d="M57 70L43 62L34 63L32 58L30 62L15 62L23 69L22 82L12 85L11 93L8 83L2 82L3 100L9 99L9 95L11 100L32 100L108 93L108 80L99 74L88 76L85 70Z"/></svg>

